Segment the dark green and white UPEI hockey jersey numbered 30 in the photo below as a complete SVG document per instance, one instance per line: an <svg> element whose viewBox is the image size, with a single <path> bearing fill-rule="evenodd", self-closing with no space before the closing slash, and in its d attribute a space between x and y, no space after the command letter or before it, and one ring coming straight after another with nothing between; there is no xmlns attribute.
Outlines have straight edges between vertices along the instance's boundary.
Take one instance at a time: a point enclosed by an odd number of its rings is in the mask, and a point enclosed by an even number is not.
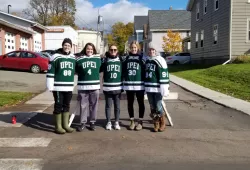
<svg viewBox="0 0 250 170"><path fill-rule="evenodd" d="M144 90L144 58L138 54L127 56L123 62L123 75L123 90Z"/></svg>

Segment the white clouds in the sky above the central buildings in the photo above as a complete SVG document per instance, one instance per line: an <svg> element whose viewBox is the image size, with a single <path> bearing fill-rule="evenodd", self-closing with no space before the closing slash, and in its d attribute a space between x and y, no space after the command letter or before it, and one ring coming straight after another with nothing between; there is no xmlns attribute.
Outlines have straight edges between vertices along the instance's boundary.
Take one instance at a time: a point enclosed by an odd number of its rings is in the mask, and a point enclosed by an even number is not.
<svg viewBox="0 0 250 170"><path fill-rule="evenodd" d="M21 3L22 1L22 3ZM7 12L10 4L10 12L21 12L28 7L29 0L1 0L0 10ZM100 7L94 7L90 0L76 0L76 24L80 27L97 27L98 8L103 16L105 29L110 29L115 22L133 22L134 15L147 15L149 8L143 4L129 0L118 0ZM102 28L102 27L101 27Z"/></svg>

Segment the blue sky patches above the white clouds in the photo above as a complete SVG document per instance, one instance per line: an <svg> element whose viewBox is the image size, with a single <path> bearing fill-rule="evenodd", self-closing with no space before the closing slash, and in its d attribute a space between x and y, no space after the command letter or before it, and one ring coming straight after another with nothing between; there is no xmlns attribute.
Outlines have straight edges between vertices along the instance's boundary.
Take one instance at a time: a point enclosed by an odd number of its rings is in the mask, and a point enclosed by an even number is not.
<svg viewBox="0 0 250 170"><path fill-rule="evenodd" d="M116 3L118 0L90 0L95 7L103 6L107 3ZM129 0L133 3L143 4L151 9L186 9L188 0Z"/></svg>

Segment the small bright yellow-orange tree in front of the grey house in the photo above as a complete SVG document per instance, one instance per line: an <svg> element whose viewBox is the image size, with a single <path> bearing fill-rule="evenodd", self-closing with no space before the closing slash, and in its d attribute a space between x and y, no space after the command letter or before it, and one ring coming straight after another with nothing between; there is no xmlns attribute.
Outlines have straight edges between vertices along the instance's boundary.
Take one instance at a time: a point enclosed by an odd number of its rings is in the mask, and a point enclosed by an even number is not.
<svg viewBox="0 0 250 170"><path fill-rule="evenodd" d="M179 32L167 31L167 35L162 37L162 49L164 52L174 54L182 50L182 39Z"/></svg>

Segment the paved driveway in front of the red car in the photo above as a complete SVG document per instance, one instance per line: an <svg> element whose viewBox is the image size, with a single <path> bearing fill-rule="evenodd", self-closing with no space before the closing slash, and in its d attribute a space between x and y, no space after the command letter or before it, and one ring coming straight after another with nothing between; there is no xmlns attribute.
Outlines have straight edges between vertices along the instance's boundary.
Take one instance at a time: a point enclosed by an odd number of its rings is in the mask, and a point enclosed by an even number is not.
<svg viewBox="0 0 250 170"><path fill-rule="evenodd" d="M46 88L45 73L0 70L0 91L39 93Z"/></svg>

